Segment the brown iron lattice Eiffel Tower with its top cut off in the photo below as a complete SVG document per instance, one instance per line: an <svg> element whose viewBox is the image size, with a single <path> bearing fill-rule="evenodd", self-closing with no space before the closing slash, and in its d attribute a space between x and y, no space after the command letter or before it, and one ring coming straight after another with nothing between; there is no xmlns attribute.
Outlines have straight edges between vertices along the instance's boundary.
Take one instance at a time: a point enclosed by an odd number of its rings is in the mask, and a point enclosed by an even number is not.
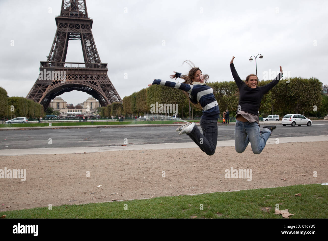
<svg viewBox="0 0 328 241"><path fill-rule="evenodd" d="M62 0L57 30L47 61L40 61L39 77L26 96L46 110L56 96L72 90L92 95L101 106L122 102L107 75L92 36L85 0ZM65 62L69 40L80 40L84 63Z"/></svg>

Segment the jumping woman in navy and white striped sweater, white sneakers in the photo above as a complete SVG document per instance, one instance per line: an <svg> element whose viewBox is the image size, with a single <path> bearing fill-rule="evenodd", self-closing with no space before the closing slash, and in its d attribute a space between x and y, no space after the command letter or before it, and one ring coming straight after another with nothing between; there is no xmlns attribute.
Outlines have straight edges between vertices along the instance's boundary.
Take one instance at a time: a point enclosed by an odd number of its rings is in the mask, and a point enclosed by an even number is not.
<svg viewBox="0 0 328 241"><path fill-rule="evenodd" d="M187 123L180 126L176 131L180 131L179 135L186 133L197 144L197 146L207 155L213 155L217 143L217 119L219 118L219 107L213 94L213 89L206 85L209 79L207 74L203 75L198 67L189 70L188 75L174 72L170 77L182 78L183 83L175 83L155 79L150 85L163 85L171 88L176 88L186 92L189 99L194 104L199 103L203 109L203 115L200 118L200 127L203 134L200 133L195 126L195 122ZM148 86L150 86L148 85Z"/></svg>

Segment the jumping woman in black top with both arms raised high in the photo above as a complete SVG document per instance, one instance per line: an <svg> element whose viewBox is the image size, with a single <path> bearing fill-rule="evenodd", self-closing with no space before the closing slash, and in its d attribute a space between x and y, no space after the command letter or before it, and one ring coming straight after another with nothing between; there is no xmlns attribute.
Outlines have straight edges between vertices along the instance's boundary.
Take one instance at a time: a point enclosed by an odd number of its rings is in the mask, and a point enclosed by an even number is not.
<svg viewBox="0 0 328 241"><path fill-rule="evenodd" d="M258 109L263 95L277 85L282 78L282 69L280 66L280 73L269 84L257 86L258 77L255 74L248 75L245 82L240 79L233 64L234 58L235 56L230 61L230 69L239 89L235 126L235 149L238 153L242 153L245 151L248 143L251 142L253 153L260 154L276 126L263 127L261 134Z"/></svg>

